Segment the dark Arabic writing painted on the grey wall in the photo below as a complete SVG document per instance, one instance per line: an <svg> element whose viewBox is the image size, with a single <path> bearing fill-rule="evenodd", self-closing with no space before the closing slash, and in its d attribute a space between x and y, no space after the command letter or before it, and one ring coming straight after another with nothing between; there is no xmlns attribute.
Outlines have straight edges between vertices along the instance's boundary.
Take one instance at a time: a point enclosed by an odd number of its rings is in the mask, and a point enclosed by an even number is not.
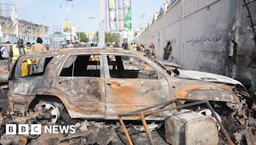
<svg viewBox="0 0 256 145"><path fill-rule="evenodd" d="M203 45L205 44L209 44L209 42L217 42L217 41L221 41L221 34L209 34L208 36L196 36L194 38L186 38L186 43L190 43L191 46L195 45L195 44L199 44L199 45Z"/></svg>

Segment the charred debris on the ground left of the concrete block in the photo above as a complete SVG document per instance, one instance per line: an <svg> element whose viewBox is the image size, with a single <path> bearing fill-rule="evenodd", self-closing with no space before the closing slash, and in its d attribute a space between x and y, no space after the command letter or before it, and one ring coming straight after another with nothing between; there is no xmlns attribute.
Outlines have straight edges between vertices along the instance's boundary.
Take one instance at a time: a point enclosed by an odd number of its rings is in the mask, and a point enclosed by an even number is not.
<svg viewBox="0 0 256 145"><path fill-rule="evenodd" d="M6 135L5 124L6 123L39 123L35 121L38 116L42 116L42 112L33 112L15 114L13 112L3 113L0 116L1 130L1 144L127 144L122 127L118 121L88 121L88 120L73 120L76 132L74 134L45 134L43 132L45 126L42 125L41 135ZM42 117L39 117L42 118ZM64 120L58 121L54 125L70 125L72 123ZM148 125L151 131L154 132L153 136L161 144L167 144L163 139L164 134L158 134L157 128L160 128L162 123L152 122ZM127 125L129 132L131 132L134 142L141 144L142 142L148 142L147 135L142 125ZM164 131L163 131L164 132ZM163 137L161 137L163 136Z"/></svg>

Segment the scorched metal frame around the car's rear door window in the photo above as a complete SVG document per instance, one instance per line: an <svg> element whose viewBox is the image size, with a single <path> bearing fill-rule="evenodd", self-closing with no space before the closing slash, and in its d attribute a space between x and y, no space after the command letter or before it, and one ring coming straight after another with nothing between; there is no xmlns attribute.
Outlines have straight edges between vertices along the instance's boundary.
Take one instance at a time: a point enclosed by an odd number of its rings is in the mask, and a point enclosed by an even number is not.
<svg viewBox="0 0 256 145"><path fill-rule="evenodd" d="M63 69L63 66L65 65L65 62L67 62L67 60L68 60L70 57L74 56L74 55L76 55L76 56L78 56L78 55L100 55L101 61L102 61L102 62L100 62L100 77L74 76L73 74L72 74L72 76L60 76L61 71L62 71L62 69ZM64 77L66 77L66 78L67 78L67 77L72 77L72 78L78 78L78 77L80 77L80 78L81 78L81 77L83 77L83 78L104 78L105 72L104 72L104 69L102 68L102 67L104 66L103 64L104 64L104 60L102 59L102 53L101 53L101 52L71 53L71 54L66 55L65 59L63 60L61 66L60 66L60 69L58 70L57 77L58 77L58 78L64 78ZM74 67L73 67L73 69L74 69ZM73 73L73 72L72 72L72 73Z"/></svg>

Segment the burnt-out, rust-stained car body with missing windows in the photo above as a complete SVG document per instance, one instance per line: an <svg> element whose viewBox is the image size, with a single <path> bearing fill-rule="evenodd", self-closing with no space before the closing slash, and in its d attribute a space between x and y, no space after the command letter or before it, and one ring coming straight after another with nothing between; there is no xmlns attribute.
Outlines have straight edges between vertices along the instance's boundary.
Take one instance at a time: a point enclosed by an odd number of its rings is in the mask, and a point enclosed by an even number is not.
<svg viewBox="0 0 256 145"><path fill-rule="evenodd" d="M22 76L22 64L28 59L35 62L34 66ZM110 48L22 55L12 67L8 86L11 111L43 106L51 108L55 120L61 116L61 107L71 118L116 120L116 114L175 98L211 100L241 109L244 97L248 97L244 86L234 79L206 72L168 71L143 53ZM164 120L165 116L154 114L146 119Z"/></svg>

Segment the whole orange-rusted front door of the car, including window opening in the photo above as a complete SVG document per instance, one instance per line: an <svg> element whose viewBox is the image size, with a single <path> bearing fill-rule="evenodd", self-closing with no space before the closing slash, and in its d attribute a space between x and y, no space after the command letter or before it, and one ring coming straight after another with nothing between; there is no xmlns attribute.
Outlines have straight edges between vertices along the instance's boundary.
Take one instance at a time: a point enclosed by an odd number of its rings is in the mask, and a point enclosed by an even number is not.
<svg viewBox="0 0 256 145"><path fill-rule="evenodd" d="M161 72L139 57L106 54L106 118L128 113L169 100L168 82ZM161 114L148 116L161 120ZM126 117L135 120L138 117Z"/></svg>

